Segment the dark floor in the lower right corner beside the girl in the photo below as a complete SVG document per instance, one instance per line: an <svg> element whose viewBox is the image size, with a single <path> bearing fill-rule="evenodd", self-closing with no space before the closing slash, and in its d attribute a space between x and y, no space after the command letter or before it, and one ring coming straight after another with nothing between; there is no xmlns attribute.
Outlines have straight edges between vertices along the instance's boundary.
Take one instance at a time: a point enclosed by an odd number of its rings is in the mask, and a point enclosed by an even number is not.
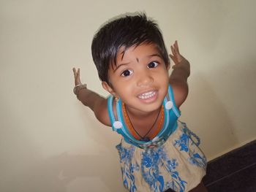
<svg viewBox="0 0 256 192"><path fill-rule="evenodd" d="M256 191L256 140L208 162L208 192Z"/></svg>

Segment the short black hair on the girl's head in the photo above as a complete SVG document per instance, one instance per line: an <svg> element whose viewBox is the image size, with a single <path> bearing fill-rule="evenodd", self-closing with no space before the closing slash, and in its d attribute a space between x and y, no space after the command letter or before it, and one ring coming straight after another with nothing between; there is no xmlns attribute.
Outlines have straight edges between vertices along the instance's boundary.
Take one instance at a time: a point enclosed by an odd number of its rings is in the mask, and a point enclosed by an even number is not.
<svg viewBox="0 0 256 192"><path fill-rule="evenodd" d="M121 47L127 50L143 43L157 45L165 65L170 64L159 26L154 20L149 20L144 13L124 15L99 28L91 43L91 54L99 79L108 82L109 66L116 65L116 56Z"/></svg>

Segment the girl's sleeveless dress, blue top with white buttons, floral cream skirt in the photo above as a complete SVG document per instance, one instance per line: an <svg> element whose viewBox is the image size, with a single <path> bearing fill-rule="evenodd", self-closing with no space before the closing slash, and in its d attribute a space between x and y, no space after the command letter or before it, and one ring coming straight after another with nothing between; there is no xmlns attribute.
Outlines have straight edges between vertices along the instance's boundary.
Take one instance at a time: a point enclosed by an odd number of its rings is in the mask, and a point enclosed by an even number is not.
<svg viewBox="0 0 256 192"><path fill-rule="evenodd" d="M116 104L118 119L113 115L113 98L108 99L108 112L113 131L121 134L116 146L120 155L124 187L129 191L189 191L206 174L206 157L200 150L200 139L178 120L180 112L169 85L169 101L165 106L165 124L157 137L148 142L138 141L124 123L121 101Z"/></svg>

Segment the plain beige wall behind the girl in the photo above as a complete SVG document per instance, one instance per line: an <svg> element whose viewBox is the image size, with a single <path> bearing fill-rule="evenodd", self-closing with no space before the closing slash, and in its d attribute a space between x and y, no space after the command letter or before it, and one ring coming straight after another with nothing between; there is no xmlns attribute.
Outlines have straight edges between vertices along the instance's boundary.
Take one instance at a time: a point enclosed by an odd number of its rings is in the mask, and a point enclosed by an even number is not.
<svg viewBox="0 0 256 192"><path fill-rule="evenodd" d="M93 2L93 3L91 3ZM255 1L0 1L0 191L124 191L115 145L72 93L72 66L101 93L91 39L146 11L192 64L182 118L208 159L256 137Z"/></svg>

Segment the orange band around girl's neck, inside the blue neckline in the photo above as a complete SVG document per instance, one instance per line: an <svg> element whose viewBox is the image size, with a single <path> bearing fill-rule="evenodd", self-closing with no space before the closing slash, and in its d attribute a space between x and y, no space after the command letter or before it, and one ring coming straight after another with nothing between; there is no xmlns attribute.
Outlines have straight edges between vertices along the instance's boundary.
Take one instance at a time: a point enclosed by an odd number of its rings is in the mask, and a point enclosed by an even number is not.
<svg viewBox="0 0 256 192"><path fill-rule="evenodd" d="M126 109L124 103L122 103L122 111L124 113L124 118L125 118L125 121L127 122L127 126L129 128L129 131L132 134L132 136L135 137L135 139L142 140L144 142L150 141L150 138L146 137L146 136L151 132L152 128L154 128L154 125L155 125L155 123L157 123L157 119L158 119L160 113L161 113L160 120L159 120L159 123L157 125L157 129L154 131L154 134L152 134L152 138L156 137L157 134L159 133L159 131L162 128L162 124L163 124L163 120L164 120L164 115L165 115L163 105L162 105L161 109L159 110L157 118L154 121L153 125L151 126L151 128L148 129L148 132L144 136L141 136L138 133L138 131L135 129L135 127L132 125L132 122L131 122L131 120L129 118L129 115L128 115L128 112L127 112L127 109Z"/></svg>

